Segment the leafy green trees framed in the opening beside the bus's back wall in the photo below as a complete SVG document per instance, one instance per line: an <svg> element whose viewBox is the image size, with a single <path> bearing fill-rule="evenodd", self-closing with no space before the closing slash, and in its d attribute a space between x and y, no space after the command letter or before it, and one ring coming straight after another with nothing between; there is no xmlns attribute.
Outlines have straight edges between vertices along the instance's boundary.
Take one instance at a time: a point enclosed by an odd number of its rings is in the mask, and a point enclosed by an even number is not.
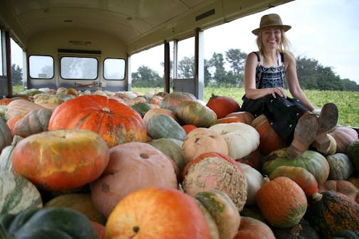
<svg viewBox="0 0 359 239"><path fill-rule="evenodd" d="M141 65L132 73L132 85L135 87L164 87L163 78L155 70Z"/></svg>

